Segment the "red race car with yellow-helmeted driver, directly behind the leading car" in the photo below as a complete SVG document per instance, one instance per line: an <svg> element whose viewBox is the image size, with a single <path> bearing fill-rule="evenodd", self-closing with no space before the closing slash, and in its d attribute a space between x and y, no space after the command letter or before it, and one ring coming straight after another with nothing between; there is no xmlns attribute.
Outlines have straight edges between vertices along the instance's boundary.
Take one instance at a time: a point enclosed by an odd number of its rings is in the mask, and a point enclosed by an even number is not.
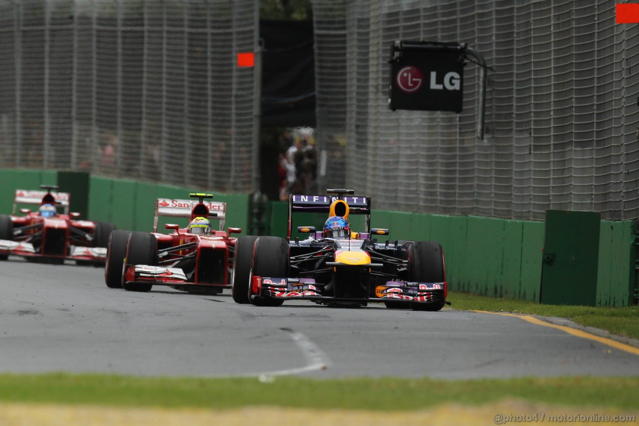
<svg viewBox="0 0 639 426"><path fill-rule="evenodd" d="M219 294L231 287L236 241L231 234L242 229L223 230L226 203L205 201L213 198L211 194L189 196L197 201L158 198L153 232L111 233L105 267L108 287L148 292L154 285L166 285L200 294ZM188 217L190 225L167 223L165 228L173 232L158 233L159 217ZM219 230L210 229L210 220L219 221Z"/></svg>

